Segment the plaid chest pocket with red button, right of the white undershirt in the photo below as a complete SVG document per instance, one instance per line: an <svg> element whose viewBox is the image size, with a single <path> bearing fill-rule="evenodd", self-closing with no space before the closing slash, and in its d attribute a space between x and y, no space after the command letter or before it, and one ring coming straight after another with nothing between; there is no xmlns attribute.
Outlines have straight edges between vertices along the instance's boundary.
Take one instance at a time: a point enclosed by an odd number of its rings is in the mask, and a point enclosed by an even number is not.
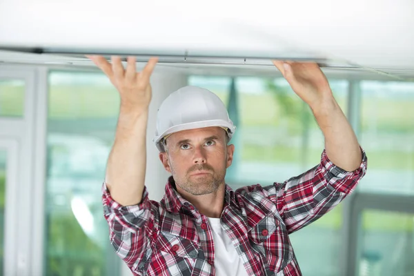
<svg viewBox="0 0 414 276"><path fill-rule="evenodd" d="M266 259L272 272L283 270L293 259L293 248L284 222L273 214L263 217L249 233L250 245Z"/></svg>

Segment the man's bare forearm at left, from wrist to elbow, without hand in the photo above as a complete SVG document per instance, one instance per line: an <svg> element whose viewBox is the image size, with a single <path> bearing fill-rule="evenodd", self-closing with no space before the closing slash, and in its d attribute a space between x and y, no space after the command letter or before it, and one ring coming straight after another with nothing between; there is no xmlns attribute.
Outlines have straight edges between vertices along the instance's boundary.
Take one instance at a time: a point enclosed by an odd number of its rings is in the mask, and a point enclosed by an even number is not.
<svg viewBox="0 0 414 276"><path fill-rule="evenodd" d="M121 108L106 168L106 185L123 206L138 204L144 191L146 172L146 128L148 110L129 112Z"/></svg>

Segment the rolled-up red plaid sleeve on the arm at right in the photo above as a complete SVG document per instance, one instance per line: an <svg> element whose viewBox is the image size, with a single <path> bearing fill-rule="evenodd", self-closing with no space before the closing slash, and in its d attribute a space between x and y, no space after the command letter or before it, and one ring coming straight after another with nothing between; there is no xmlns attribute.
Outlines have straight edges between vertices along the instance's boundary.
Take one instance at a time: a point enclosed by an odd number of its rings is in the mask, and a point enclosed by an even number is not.
<svg viewBox="0 0 414 276"><path fill-rule="evenodd" d="M361 164L351 172L335 166L324 150L318 166L284 183L266 187L289 233L319 219L355 190L367 168L366 153L362 148L361 151Z"/></svg>

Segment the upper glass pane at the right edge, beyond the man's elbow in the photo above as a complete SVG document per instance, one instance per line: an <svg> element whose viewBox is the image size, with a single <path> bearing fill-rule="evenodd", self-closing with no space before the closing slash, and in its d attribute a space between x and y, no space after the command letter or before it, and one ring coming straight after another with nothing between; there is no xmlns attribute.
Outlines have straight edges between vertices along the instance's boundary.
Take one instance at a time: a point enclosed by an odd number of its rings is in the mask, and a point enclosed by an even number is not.
<svg viewBox="0 0 414 276"><path fill-rule="evenodd" d="M359 188L414 195L414 83L363 81L361 88L369 172Z"/></svg>

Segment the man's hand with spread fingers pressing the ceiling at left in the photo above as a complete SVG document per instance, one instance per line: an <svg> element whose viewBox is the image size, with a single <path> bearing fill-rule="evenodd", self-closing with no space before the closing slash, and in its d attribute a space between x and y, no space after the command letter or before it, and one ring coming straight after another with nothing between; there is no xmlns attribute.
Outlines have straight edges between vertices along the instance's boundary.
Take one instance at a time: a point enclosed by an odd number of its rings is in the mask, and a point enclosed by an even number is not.
<svg viewBox="0 0 414 276"><path fill-rule="evenodd" d="M143 111L150 104L152 90L150 76L158 61L151 58L142 72L137 72L135 57L128 57L126 70L120 57L112 57L112 64L101 56L87 56L110 79L121 96L121 109L128 111Z"/></svg>

